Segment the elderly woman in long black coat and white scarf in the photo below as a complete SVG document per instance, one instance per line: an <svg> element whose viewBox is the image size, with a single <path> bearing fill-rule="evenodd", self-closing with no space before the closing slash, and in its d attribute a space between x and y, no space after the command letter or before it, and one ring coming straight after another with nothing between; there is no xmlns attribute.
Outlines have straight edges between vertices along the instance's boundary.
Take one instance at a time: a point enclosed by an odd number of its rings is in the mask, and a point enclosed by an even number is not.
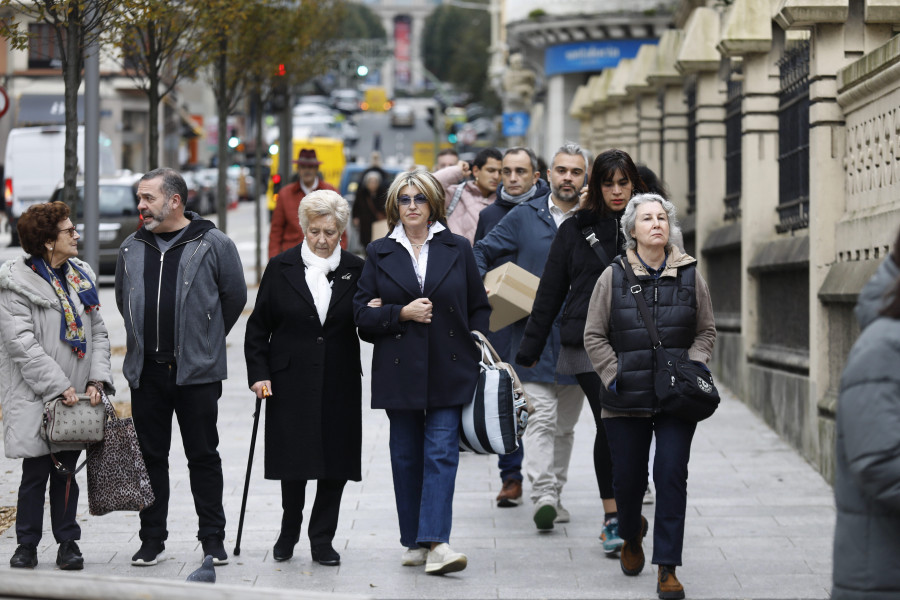
<svg viewBox="0 0 900 600"><path fill-rule="evenodd" d="M350 210L336 192L300 203L303 241L273 257L247 322L247 378L266 402L266 479L281 481L281 534L272 550L288 560L300 539L306 482L318 481L309 519L312 559L334 566L341 495L359 481L361 365L353 296L363 261L339 242Z"/></svg>

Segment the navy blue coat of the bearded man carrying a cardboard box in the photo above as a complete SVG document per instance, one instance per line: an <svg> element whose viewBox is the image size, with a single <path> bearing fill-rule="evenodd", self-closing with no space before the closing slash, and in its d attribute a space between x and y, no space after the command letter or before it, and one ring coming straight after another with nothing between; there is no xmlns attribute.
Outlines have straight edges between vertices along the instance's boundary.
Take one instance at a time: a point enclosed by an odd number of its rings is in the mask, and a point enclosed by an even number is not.
<svg viewBox="0 0 900 600"><path fill-rule="evenodd" d="M478 270L483 276L491 269L507 262L506 259L511 259L532 275L540 277L544 273L544 265L547 263L554 237L556 237L556 222L547 207L547 196L532 198L509 211L483 240L475 244ZM523 318L509 326L512 337L509 355L501 358L512 362L525 335L527 322L528 319ZM516 369L519 379L539 383L576 383L571 375L556 374L559 347L559 315L556 315L538 364L531 369Z"/></svg>

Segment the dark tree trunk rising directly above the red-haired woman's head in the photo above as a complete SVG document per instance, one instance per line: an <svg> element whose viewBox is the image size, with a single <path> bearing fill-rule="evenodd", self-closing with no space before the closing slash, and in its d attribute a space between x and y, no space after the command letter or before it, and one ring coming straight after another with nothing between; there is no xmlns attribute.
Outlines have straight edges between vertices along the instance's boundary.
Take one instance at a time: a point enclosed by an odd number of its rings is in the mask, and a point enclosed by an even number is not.
<svg viewBox="0 0 900 600"><path fill-rule="evenodd" d="M77 8L75 9L77 10ZM63 25L60 25L63 27ZM81 19L71 15L64 25L66 51L63 56L63 81L65 84L66 143L63 172L63 200L75 206L78 199L78 87L81 85ZM77 206L73 216L78 214Z"/></svg>

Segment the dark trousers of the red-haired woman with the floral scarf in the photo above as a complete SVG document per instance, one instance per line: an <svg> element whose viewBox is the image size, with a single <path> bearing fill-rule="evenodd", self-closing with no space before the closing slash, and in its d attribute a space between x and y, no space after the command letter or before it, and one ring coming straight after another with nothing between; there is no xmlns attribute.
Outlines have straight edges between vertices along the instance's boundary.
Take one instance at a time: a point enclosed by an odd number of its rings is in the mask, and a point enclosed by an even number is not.
<svg viewBox="0 0 900 600"><path fill-rule="evenodd" d="M56 460L69 470L75 470L80 450L55 452ZM66 476L56 470L50 455L22 460L22 483L16 505L16 539L19 544L41 541L44 528L44 496L50 479L50 525L53 537L59 542L81 539L81 527L75 520L78 508L78 482L72 478L69 488L69 505L66 508Z"/></svg>

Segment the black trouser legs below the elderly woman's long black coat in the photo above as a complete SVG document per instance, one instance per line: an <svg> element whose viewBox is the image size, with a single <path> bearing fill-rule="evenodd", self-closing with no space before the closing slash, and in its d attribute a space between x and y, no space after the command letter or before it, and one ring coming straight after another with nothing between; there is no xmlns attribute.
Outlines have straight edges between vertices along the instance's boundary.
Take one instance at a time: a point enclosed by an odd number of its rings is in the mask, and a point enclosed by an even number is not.
<svg viewBox="0 0 900 600"><path fill-rule="evenodd" d="M341 496L344 494L345 479L319 479L316 485L316 500L309 515L310 547L330 544L337 530L338 514L341 510ZM300 524L303 522L303 507L306 505L306 480L281 481L281 532L300 538Z"/></svg>

